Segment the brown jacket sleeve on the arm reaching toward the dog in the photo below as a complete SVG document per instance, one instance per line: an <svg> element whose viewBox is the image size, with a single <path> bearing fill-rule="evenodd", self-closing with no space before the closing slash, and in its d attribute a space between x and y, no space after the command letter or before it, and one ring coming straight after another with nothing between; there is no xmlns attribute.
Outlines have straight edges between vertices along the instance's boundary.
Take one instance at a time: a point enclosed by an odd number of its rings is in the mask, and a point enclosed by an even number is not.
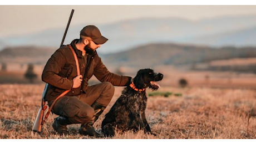
<svg viewBox="0 0 256 144"><path fill-rule="evenodd" d="M95 55L96 66L93 69L93 74L101 82L110 82L114 86L127 86L131 82L130 76L117 75L110 73L106 66L102 63L99 55Z"/></svg>

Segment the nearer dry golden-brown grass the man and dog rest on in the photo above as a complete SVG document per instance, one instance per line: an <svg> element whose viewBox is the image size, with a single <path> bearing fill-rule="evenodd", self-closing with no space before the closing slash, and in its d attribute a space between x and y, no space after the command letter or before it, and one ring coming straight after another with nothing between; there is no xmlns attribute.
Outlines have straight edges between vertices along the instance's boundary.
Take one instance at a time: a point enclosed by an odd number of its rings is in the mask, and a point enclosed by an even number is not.
<svg viewBox="0 0 256 144"><path fill-rule="evenodd" d="M53 131L52 115L43 126L42 133L32 131L33 122L41 105L45 84L0 85L0 139L6 138L95 138L78 133L80 125L68 125L69 135ZM95 122L101 127L104 115L120 96L122 87L116 87L115 95L104 113ZM255 139L256 138L256 90L163 86L159 92L178 92L182 96L149 96L146 119L156 136L117 131L107 139ZM147 93L150 94L150 90Z"/></svg>

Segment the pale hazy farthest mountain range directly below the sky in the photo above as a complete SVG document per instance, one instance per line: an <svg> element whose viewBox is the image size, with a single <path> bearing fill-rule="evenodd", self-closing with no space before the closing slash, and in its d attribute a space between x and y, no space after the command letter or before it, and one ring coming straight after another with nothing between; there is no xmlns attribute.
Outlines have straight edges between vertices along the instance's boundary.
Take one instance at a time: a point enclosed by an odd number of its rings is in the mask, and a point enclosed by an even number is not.
<svg viewBox="0 0 256 144"><path fill-rule="evenodd" d="M79 38L80 30L88 24L92 23L72 25L71 22L65 44ZM65 26L66 22L63 22L62 28L17 37L0 38L0 49L3 49L5 45L40 45L57 49L60 47ZM253 37L255 31L251 31L252 34L248 35L248 30L256 27L256 16L220 17L196 21L181 18L140 18L105 25L96 24L96 26L99 27L102 35L109 39L99 49L99 52L106 54L121 52L137 47L137 45L162 42L191 44L195 42L211 47L214 45L222 47L223 44L227 43L236 47L251 44L255 46L253 39L255 38ZM241 34L233 35L238 30ZM244 38L247 40L243 40ZM217 40L216 43L214 43L214 39Z"/></svg>

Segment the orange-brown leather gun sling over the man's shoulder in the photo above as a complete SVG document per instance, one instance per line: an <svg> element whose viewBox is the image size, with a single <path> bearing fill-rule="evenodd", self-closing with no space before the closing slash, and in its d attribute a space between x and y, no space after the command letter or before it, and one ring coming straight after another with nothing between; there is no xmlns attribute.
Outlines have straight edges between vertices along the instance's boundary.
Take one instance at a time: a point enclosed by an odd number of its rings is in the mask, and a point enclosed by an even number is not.
<svg viewBox="0 0 256 144"><path fill-rule="evenodd" d="M73 50L73 48L71 47L71 45L70 45L70 49L72 50L72 53L73 53L73 55L74 55L74 57L75 57L75 60L76 60L77 75L80 75L80 69L79 69L79 64L78 64L78 59L77 59L76 53L75 53L75 51ZM46 121L46 119L48 118L50 112L52 111L52 108L53 108L55 102L56 102L58 99L60 99L60 97L66 95L67 92L69 92L69 91L70 91L70 90L66 90L66 91L62 92L62 94L61 94L60 96L58 96L58 97L52 102L52 105L51 105L51 107L49 108L47 114L45 115L45 119L43 119L41 125L45 124L45 121Z"/></svg>

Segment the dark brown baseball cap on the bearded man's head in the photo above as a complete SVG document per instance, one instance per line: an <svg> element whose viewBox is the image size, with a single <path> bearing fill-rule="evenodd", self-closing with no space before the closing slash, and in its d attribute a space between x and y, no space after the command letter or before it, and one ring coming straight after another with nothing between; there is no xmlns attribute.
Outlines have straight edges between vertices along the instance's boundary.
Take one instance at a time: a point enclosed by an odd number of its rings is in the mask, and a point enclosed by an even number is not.
<svg viewBox="0 0 256 144"><path fill-rule="evenodd" d="M83 27L80 31L80 37L90 37L96 44L104 44L109 40L101 35L99 28L95 25L87 25L86 27Z"/></svg>

